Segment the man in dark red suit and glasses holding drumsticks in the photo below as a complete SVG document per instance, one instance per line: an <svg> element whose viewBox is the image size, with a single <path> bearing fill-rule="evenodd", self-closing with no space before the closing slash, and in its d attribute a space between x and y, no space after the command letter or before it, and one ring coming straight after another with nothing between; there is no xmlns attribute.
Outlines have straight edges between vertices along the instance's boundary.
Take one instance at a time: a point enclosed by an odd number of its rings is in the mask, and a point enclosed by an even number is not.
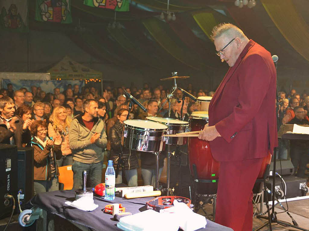
<svg viewBox="0 0 309 231"><path fill-rule="evenodd" d="M262 160L277 147L276 69L264 47L232 24L215 26L216 54L230 66L209 105L210 141L220 161L215 221L252 230L252 188ZM222 61L223 62L223 61Z"/></svg>

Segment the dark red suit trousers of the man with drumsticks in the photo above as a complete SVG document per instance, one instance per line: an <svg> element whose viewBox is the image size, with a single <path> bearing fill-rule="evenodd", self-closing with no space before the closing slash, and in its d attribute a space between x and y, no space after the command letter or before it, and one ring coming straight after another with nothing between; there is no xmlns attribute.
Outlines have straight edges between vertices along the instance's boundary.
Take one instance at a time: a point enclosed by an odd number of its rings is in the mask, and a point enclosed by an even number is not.
<svg viewBox="0 0 309 231"><path fill-rule="evenodd" d="M234 231L252 231L252 188L263 158L220 162L215 222Z"/></svg>

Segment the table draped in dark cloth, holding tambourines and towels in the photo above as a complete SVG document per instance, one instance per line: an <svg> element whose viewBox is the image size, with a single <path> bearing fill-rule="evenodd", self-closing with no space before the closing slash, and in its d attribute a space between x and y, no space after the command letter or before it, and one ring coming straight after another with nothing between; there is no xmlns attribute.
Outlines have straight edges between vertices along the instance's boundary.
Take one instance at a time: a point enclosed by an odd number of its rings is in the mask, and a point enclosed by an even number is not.
<svg viewBox="0 0 309 231"><path fill-rule="evenodd" d="M117 187L118 185L116 185ZM119 186L118 186L119 187ZM82 226L89 227L94 230L121 230L116 224L117 221L113 221L113 216L103 212L105 205L112 203L120 203L125 207L126 212L131 212L132 214L142 212L146 210L146 201L150 201L154 197L145 198L135 198L127 200L122 197L116 197L113 201L107 201L103 197L94 196L94 203L99 205L97 209L91 212L86 212L77 208L67 206L65 201L74 201L75 192L74 190L59 190L46 193L38 193L34 196L27 204L28 208L38 207L43 209L44 217L46 222L47 213L55 214L59 217L65 218ZM46 226L45 226L46 227ZM43 230L43 229L42 229ZM207 225L205 229L207 231L233 231L233 229L227 228L225 226L216 224L210 220L207 220Z"/></svg>

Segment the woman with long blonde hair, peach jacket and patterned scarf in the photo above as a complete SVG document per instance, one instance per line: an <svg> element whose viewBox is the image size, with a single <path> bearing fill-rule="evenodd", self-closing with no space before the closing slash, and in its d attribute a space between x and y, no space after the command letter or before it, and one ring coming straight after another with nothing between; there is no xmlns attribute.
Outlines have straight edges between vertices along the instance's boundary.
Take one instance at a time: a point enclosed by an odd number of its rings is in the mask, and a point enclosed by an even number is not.
<svg viewBox="0 0 309 231"><path fill-rule="evenodd" d="M56 137L61 135L61 152L62 157L57 160L59 167L72 165L73 156L69 145L69 127L72 119L67 116L66 108L59 106L55 107L52 115L49 117L48 135L50 137Z"/></svg>

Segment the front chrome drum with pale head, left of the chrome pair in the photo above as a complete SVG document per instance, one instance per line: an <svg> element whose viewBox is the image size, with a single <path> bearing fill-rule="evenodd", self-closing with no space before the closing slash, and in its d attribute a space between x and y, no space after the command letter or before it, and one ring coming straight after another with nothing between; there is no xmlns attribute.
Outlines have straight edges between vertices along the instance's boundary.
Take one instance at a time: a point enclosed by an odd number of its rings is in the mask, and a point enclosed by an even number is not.
<svg viewBox="0 0 309 231"><path fill-rule="evenodd" d="M149 120L125 120L121 144L142 152L161 152L164 149L165 124Z"/></svg>

